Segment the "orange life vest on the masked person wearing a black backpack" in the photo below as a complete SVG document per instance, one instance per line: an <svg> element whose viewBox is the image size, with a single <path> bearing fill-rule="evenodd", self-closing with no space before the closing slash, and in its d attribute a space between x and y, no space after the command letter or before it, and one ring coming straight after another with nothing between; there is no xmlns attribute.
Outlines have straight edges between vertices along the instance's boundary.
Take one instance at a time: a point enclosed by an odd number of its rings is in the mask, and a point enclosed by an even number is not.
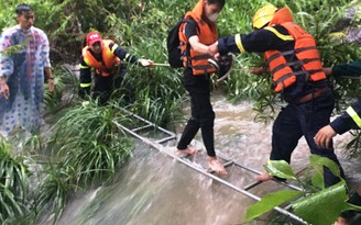
<svg viewBox="0 0 361 225"><path fill-rule="evenodd" d="M218 32L215 23L210 25L207 24L203 19L203 0L196 4L196 7L186 13L185 19L193 19L197 22L198 30L197 34L199 42L204 45L211 45L218 41ZM193 75L200 76L205 74L216 72L217 69L208 63L208 58L211 56L208 54L200 54L189 47L189 53L187 49L188 40L185 35L185 23L179 26L179 41L180 50L183 54L183 65L184 67L192 67Z"/></svg>

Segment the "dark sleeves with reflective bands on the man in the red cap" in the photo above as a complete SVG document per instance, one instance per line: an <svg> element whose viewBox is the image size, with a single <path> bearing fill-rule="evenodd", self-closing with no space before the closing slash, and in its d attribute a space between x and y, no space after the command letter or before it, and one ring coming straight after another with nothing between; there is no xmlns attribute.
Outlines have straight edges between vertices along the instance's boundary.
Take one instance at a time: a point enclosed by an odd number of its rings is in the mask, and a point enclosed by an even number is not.
<svg viewBox="0 0 361 225"><path fill-rule="evenodd" d="M109 48L112 49L114 43L109 44ZM90 50L91 52L91 50ZM129 61L131 64L138 63L138 58L133 55L130 55L124 48L121 48L117 45L113 50L113 54L120 58L120 60ZM95 55L94 55L95 56ZM95 56L95 58L97 58ZM99 61L101 58L97 58ZM87 88L91 86L91 68L85 63L83 55L80 56L80 87Z"/></svg>

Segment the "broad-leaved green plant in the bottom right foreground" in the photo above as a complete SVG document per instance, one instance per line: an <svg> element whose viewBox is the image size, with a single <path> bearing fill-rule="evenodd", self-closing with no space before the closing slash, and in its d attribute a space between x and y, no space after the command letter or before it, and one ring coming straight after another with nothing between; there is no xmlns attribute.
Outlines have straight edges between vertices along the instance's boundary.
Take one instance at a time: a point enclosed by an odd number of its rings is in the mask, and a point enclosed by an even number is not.
<svg viewBox="0 0 361 225"><path fill-rule="evenodd" d="M310 166L315 172L311 184L297 177L289 165L284 160L270 160L264 165L265 170L275 177L296 180L303 191L282 190L266 194L260 202L251 205L247 211L245 221L250 222L263 213L291 201L296 215L314 225L332 224L341 212L347 210L361 210L348 204L348 191L344 180L340 177L339 167L330 159L311 155ZM340 182L331 187L324 187L324 168L329 168Z"/></svg>

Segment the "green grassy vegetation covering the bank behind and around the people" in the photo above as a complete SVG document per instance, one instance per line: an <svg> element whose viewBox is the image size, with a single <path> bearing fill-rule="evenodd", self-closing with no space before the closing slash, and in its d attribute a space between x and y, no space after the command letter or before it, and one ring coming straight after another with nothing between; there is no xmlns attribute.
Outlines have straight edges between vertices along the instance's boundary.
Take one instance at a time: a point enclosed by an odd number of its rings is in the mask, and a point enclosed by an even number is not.
<svg viewBox="0 0 361 225"><path fill-rule="evenodd" d="M13 10L23 1L2 2L0 29L15 24ZM132 143L113 123L129 123L118 106L166 125L182 120L180 105L186 100L182 87L182 70L167 67L151 69L128 65L123 87L107 106L96 102L81 104L76 98L76 71L62 66L77 64L84 40L90 30L114 40L139 57L166 63L167 31L190 10L196 0L28 0L36 12L35 25L43 29L51 42L51 58L55 68L57 89L45 93L46 115L51 128L46 134L18 136L0 145L0 222L3 224L36 223L39 216L51 211L54 223L62 215L69 194L101 182L111 181L117 170L131 156ZM350 0L270 1L277 7L289 7L296 21L318 41L325 66L358 59L359 47L330 35L347 31L335 24L344 11L357 5ZM251 18L265 1L227 0L218 25L220 36L248 33ZM360 22L359 15L351 25ZM230 101L255 100L260 119L272 117L280 99L272 93L270 77L255 77L248 72L263 63L258 54L241 54L231 78L221 86ZM338 109L349 102L347 95L359 94L360 81L333 80ZM69 94L70 93L70 94ZM67 94L67 95L66 95ZM62 98L66 95L67 104ZM62 108L59 108L62 106ZM59 110L64 109L64 110ZM61 111L61 112L59 112ZM266 112L266 113L264 113ZM355 133L359 135L359 133ZM19 142L21 140L21 142ZM350 144L352 154L360 155L359 136ZM14 144L17 143L17 144ZM20 143L20 144L18 144ZM353 146L353 147L352 147ZM36 182L31 182L36 180ZM39 181L39 182L37 182Z"/></svg>

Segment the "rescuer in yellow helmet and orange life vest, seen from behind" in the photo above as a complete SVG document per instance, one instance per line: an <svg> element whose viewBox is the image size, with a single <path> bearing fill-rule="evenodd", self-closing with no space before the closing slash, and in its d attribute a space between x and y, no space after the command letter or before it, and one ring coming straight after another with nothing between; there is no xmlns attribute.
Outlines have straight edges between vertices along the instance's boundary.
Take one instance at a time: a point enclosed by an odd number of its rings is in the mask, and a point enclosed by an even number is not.
<svg viewBox="0 0 361 225"><path fill-rule="evenodd" d="M314 140L317 131L329 124L335 105L315 38L294 23L287 8L277 9L272 4L256 11L253 29L250 34L219 38L210 46L210 52L265 54L265 65L272 74L274 91L281 93L288 103L273 124L270 159L289 162L298 139L305 136L311 154L340 165L332 146L326 149L317 146ZM265 70L265 67L259 67L251 72L262 74ZM340 171L343 176L341 167ZM263 173L256 179L267 181L273 177ZM325 169L326 187L338 181L330 170Z"/></svg>

